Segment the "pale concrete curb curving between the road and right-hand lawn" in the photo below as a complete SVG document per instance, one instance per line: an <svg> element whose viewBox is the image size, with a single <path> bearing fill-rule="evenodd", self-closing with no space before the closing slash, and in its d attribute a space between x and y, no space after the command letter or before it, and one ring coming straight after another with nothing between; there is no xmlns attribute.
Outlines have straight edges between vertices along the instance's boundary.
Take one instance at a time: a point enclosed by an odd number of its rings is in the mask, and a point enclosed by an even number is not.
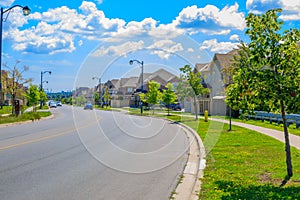
<svg viewBox="0 0 300 200"><path fill-rule="evenodd" d="M183 172L183 178L178 183L176 190L171 198L179 200L196 200L199 199L201 189L201 179L205 169L205 148L203 142L192 128L179 123L184 129L190 142L190 151L187 164Z"/></svg>

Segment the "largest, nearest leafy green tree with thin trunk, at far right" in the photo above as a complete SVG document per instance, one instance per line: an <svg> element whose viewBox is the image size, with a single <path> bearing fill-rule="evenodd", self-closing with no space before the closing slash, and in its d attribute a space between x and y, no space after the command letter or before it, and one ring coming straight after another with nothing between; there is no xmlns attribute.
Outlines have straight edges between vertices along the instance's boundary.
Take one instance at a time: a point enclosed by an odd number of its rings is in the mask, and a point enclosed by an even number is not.
<svg viewBox="0 0 300 200"><path fill-rule="evenodd" d="M300 106L300 32L282 31L278 19L281 9L246 18L250 37L235 59L233 84L227 88L227 102L239 109L254 112L279 112L285 137L287 176L293 176L286 113L299 112Z"/></svg>

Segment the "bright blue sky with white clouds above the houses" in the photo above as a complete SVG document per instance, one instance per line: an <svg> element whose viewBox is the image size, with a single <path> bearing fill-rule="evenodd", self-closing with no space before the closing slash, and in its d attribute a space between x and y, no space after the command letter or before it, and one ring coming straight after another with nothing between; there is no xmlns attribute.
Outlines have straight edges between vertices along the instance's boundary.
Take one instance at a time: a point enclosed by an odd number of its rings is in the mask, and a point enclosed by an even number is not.
<svg viewBox="0 0 300 200"><path fill-rule="evenodd" d="M4 9L27 5L31 14L15 8L3 23L2 63L29 66L23 75L44 88L67 91L93 87L101 77L138 76L165 68L175 74L185 64L209 62L247 41L245 16L281 7L284 29L299 28L299 0L1 0ZM5 68L3 68L5 69Z"/></svg>

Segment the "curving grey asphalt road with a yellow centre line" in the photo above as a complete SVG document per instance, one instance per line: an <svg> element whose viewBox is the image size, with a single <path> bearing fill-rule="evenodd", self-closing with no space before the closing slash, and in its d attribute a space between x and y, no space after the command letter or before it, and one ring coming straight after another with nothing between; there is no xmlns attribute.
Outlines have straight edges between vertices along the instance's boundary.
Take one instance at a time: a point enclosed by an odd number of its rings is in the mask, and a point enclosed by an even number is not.
<svg viewBox="0 0 300 200"><path fill-rule="evenodd" d="M188 140L170 122L62 106L0 128L0 199L168 199Z"/></svg>

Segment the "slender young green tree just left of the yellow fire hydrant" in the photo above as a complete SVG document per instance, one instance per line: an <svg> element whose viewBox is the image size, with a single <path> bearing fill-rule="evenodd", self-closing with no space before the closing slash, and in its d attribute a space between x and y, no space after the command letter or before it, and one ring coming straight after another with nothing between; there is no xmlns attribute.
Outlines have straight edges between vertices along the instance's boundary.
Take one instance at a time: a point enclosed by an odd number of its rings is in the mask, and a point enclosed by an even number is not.
<svg viewBox="0 0 300 200"><path fill-rule="evenodd" d="M203 87L201 73L193 72L189 65L185 65L184 67L180 68L180 71L183 73L182 76L188 83L188 87L192 88L193 92L189 95L194 98L196 120L198 120L198 98L203 94L208 94L209 89Z"/></svg>

